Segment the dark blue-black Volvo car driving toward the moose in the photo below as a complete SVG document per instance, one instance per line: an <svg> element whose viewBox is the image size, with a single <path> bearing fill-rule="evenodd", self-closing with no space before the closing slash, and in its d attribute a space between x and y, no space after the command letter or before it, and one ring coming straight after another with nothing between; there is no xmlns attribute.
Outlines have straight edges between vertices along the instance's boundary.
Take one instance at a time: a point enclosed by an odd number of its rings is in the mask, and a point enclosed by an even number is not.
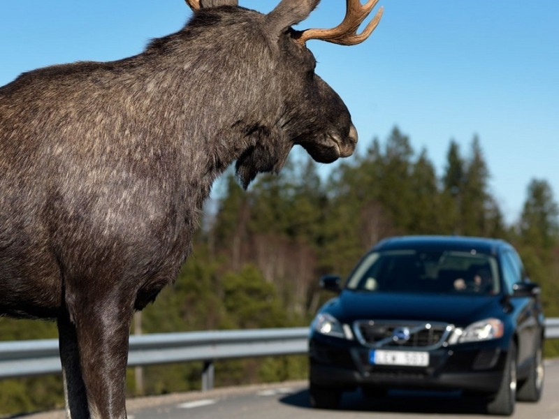
<svg viewBox="0 0 559 419"><path fill-rule="evenodd" d="M539 288L502 240L394 237L361 259L311 325L312 406L335 408L361 388L460 391L488 413L542 395Z"/></svg>

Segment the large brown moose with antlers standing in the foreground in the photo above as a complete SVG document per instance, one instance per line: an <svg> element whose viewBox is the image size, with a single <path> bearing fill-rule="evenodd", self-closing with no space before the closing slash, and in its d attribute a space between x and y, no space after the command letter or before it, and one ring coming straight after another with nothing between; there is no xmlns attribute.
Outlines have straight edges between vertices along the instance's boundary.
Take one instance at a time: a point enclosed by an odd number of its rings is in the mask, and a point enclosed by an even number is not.
<svg viewBox="0 0 559 419"><path fill-rule="evenodd" d="M57 321L68 418L126 418L131 318L173 284L212 182L245 189L294 145L350 156L357 132L306 43L354 45L382 8L347 0L333 29L297 31L320 0L268 14L186 0L175 34L111 62L0 87L0 316Z"/></svg>

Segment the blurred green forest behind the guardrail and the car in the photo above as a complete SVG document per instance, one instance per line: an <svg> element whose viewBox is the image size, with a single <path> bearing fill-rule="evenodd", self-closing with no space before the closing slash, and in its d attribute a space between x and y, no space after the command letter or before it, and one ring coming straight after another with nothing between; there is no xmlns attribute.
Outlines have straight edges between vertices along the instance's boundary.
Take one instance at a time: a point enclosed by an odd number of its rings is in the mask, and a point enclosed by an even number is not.
<svg viewBox="0 0 559 419"><path fill-rule="evenodd" d="M261 175L243 191L233 173L215 186L192 256L173 287L142 314L145 333L308 325L328 297L322 274L349 274L379 240L392 235L500 237L521 253L542 286L546 315L559 316L559 209L546 179L526 186L523 210L507 225L490 188L481 140L466 152L451 140L442 174L395 127L381 142L337 165L292 153L279 176ZM0 318L0 339L56 337L48 322ZM559 345L546 344L546 355ZM143 385L129 372L129 392L199 388L202 365L147 367ZM305 378L305 357L219 362L217 385ZM0 381L0 415L63 406L59 377Z"/></svg>

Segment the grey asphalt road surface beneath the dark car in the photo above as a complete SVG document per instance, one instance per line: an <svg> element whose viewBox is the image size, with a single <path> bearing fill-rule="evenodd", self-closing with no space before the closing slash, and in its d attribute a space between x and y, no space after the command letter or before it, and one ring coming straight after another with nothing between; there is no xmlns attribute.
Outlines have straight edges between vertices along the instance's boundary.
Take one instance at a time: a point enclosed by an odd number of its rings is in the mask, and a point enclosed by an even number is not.
<svg viewBox="0 0 559 419"><path fill-rule="evenodd" d="M487 418L472 401L426 392L391 392L375 401L356 391L344 394L340 409L312 409L304 381L132 399L128 410L130 419ZM57 411L26 418L63 419L64 414ZM512 418L559 419L559 360L546 362L542 400L516 404Z"/></svg>

